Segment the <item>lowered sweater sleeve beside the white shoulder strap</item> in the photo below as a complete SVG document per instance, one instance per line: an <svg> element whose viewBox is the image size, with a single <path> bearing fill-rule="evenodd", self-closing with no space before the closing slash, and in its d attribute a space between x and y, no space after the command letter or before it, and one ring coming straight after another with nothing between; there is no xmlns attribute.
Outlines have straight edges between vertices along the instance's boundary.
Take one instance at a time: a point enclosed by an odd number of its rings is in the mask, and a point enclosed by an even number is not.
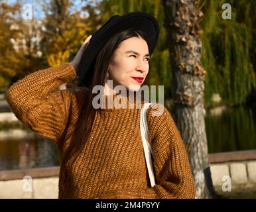
<svg viewBox="0 0 256 212"><path fill-rule="evenodd" d="M149 107L147 114L149 141L153 146L153 166L156 185L146 189L121 189L106 193L101 198L129 199L194 199L196 189L188 162L186 148L176 125L166 109L153 117Z"/></svg>

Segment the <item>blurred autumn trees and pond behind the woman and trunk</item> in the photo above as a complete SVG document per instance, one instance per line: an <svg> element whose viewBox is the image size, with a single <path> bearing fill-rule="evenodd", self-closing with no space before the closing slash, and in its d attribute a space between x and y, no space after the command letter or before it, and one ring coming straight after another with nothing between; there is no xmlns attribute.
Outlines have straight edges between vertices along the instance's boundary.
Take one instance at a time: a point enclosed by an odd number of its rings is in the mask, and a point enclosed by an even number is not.
<svg viewBox="0 0 256 212"><path fill-rule="evenodd" d="M203 13L200 39L210 154L256 150L256 1L228 1L230 20L222 19L224 3L201 0L198 4ZM164 85L164 102L172 111L172 58L160 0L0 0L0 171L60 165L50 140L11 121L5 91L32 72L71 62L89 34L112 15L131 11L151 13L159 21L159 43L146 84ZM80 86L74 79L60 89Z"/></svg>

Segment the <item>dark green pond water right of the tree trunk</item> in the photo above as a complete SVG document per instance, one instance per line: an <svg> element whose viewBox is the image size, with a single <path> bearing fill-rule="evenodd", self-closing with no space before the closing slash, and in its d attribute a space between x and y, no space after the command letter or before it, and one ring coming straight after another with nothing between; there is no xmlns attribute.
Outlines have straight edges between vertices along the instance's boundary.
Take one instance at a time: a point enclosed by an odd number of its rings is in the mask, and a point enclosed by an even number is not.
<svg viewBox="0 0 256 212"><path fill-rule="evenodd" d="M205 121L209 153L256 149L256 105L208 113Z"/></svg>

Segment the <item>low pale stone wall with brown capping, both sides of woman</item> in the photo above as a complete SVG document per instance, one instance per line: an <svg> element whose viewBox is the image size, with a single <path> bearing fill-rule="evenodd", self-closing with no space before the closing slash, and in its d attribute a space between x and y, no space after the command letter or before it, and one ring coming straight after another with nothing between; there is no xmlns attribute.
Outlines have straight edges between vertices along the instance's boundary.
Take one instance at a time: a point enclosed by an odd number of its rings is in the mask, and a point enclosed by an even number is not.
<svg viewBox="0 0 256 212"><path fill-rule="evenodd" d="M249 152L247 157L245 157L245 152ZM210 164L210 170L212 172L213 185L217 192L225 193L222 191L222 185L224 185L225 182L223 178L224 176L229 176L231 178L232 192L256 189L256 160L238 160L238 158L254 158L255 152L255 150L236 152L237 154L240 154L237 158L232 158L233 152L230 152L230 154L229 152L225 152L210 155L210 157L212 156L212 158L215 159L210 160L211 162L214 162ZM229 156L225 158L224 161L220 162L220 158L223 158L227 154ZM19 189L19 192L15 193L14 188L11 188L10 191L7 191L5 197L15 198L16 196L19 196L21 198L58 198L57 185L59 172L60 166L0 171L0 187L16 186L17 189ZM35 189L32 194L24 193L21 187L19 187L22 185L23 178L25 176L31 176L33 180L33 186L35 186ZM52 187L53 192L49 193L49 191L51 191L50 187ZM14 196L12 196L10 192L13 192ZM47 193L49 193L49 195L47 195Z"/></svg>

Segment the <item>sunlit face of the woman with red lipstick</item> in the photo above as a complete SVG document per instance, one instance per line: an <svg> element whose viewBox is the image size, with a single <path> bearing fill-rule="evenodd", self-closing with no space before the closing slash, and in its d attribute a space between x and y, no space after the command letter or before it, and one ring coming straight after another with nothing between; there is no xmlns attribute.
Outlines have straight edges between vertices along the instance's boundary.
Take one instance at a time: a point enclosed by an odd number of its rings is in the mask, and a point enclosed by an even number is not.
<svg viewBox="0 0 256 212"><path fill-rule="evenodd" d="M149 73L149 57L149 47L143 38L123 40L109 64L108 79L113 80L113 88L123 85L133 91L139 90Z"/></svg>

